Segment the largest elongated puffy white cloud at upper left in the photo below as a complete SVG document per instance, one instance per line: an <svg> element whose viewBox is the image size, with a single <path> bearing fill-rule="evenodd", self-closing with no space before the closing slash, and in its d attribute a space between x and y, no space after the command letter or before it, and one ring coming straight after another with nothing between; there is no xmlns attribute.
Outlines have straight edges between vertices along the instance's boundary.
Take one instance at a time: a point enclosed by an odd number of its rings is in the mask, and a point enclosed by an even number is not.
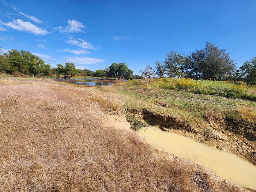
<svg viewBox="0 0 256 192"><path fill-rule="evenodd" d="M48 33L48 31L46 31L42 28L39 28L39 27L33 25L32 23L23 22L20 19L13 20L12 22L8 22L8 23L4 23L0 20L0 23L2 25L12 27L13 29L16 29L19 31L27 31L27 32L33 33L35 35L46 35Z"/></svg>

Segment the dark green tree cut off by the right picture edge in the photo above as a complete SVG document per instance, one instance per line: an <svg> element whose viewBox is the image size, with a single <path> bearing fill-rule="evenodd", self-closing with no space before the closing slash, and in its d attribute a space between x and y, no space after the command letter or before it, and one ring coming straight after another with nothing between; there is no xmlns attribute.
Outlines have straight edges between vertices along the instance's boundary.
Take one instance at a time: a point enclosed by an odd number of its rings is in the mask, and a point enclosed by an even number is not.
<svg viewBox="0 0 256 192"><path fill-rule="evenodd" d="M246 82L246 87L249 85L256 84L256 57L252 58L250 61L245 61L245 63L239 68L241 77Z"/></svg>

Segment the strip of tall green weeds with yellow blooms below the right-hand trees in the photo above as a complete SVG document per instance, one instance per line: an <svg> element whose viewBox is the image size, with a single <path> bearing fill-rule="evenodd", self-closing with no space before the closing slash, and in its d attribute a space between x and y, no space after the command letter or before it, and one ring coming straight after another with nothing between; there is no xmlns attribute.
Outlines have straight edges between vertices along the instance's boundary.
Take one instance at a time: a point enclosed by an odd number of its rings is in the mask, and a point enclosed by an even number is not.
<svg viewBox="0 0 256 192"><path fill-rule="evenodd" d="M234 84L225 81L161 78L153 79L151 83L143 80L128 80L128 82L123 83L123 88L152 93L159 89L169 89L185 91L187 97L190 96L189 93L194 93L256 101L256 87L246 87L244 82ZM205 97L205 99L208 99L208 97Z"/></svg>

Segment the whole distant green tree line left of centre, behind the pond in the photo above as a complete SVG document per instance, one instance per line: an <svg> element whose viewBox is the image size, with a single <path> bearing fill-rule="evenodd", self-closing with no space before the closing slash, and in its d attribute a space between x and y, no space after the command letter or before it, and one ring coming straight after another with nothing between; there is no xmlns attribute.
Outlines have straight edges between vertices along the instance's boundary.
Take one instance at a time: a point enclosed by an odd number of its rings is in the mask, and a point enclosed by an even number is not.
<svg viewBox="0 0 256 192"><path fill-rule="evenodd" d="M1 47L0 47L1 53ZM133 72L124 63L112 63L105 70L98 69L95 72L88 69L76 69L74 63L65 63L64 65L57 64L57 67L50 68L50 64L45 64L43 59L34 54L21 50L20 52L12 49L7 53L0 54L0 72L12 74L19 71L30 76L46 76L46 75L64 75L65 78L71 78L74 75L78 76L94 76L122 79L133 79ZM135 78L143 78L135 76Z"/></svg>

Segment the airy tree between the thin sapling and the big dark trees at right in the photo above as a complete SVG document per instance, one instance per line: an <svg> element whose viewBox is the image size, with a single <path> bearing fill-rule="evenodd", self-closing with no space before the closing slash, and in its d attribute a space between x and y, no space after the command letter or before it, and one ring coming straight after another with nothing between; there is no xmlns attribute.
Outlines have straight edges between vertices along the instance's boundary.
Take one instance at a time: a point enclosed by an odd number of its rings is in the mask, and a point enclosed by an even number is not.
<svg viewBox="0 0 256 192"><path fill-rule="evenodd" d="M166 58L164 61L164 67L167 75L172 77L177 77L181 75L180 65L182 64L183 57L177 52L166 53Z"/></svg>

